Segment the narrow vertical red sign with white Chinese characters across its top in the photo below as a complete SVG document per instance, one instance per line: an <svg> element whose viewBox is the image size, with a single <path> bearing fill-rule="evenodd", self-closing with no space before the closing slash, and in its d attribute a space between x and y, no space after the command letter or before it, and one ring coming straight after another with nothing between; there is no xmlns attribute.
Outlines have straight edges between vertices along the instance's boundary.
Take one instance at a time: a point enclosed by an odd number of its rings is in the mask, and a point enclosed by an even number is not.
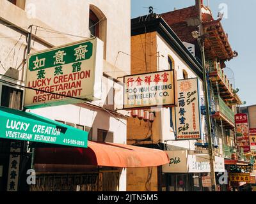
<svg viewBox="0 0 256 204"><path fill-rule="evenodd" d="M244 149L244 152L250 152L248 117L245 113L235 115L236 123L236 143Z"/></svg>

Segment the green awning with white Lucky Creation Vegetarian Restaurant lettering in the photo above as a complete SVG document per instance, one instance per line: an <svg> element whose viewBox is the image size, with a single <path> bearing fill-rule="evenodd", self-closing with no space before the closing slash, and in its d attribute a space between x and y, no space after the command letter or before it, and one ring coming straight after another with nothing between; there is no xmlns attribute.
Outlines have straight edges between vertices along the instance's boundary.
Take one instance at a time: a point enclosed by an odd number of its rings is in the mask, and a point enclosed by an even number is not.
<svg viewBox="0 0 256 204"><path fill-rule="evenodd" d="M0 106L0 138L87 147L88 132L34 113Z"/></svg>

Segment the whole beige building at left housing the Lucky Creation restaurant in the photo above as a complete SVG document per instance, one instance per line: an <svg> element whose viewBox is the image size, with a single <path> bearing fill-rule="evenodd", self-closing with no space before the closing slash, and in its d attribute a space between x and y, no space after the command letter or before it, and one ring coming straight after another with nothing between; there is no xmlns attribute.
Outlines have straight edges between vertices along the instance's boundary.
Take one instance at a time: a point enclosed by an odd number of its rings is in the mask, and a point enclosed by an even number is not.
<svg viewBox="0 0 256 204"><path fill-rule="evenodd" d="M51 119L51 124L63 124L65 129L72 126L86 131L89 140L87 149L79 149L7 140L1 136L1 191L126 190L126 168L133 167L133 164L125 161L125 155L129 155L129 152L122 151L126 144L129 113L122 110L123 86L118 78L130 73L130 4L130 1L97 0L65 1L65 4L63 1L33 0L0 2L1 106L22 110L26 112L24 117L33 117L31 115L35 113L37 118ZM90 38L97 38L101 45L98 51L102 53L102 58L95 62L102 63L99 65L102 68L99 73L101 82L98 82L102 84L100 99L44 108L24 108L24 95L28 89L27 54ZM41 61L38 63L37 66L42 65ZM9 109L3 109L4 112L9 112ZM107 142L115 145L108 145ZM104 152L97 154L95 149ZM138 151L143 153L143 149ZM111 157L108 153L124 155L116 159L115 163L111 159L104 160L104 156ZM157 152L152 154L157 155ZM165 156L163 160L167 158ZM136 159L141 158L138 156ZM141 161L141 166L147 166ZM35 170L33 185L28 185L28 170Z"/></svg>

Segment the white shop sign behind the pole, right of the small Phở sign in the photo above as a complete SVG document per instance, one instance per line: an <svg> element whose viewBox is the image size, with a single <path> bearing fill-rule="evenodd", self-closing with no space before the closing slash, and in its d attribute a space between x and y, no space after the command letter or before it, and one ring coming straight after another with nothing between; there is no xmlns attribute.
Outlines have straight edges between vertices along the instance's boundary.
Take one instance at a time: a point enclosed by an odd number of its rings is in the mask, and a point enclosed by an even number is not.
<svg viewBox="0 0 256 204"><path fill-rule="evenodd" d="M224 172L224 158L214 157L214 171ZM208 173L211 172L209 154L205 155L189 155L188 156L188 171L189 173Z"/></svg>

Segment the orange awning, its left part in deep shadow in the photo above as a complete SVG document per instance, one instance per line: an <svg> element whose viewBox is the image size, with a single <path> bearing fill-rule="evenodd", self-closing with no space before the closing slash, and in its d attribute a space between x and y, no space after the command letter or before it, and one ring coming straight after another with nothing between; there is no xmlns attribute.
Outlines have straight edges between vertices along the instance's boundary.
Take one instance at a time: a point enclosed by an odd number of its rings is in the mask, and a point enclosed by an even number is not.
<svg viewBox="0 0 256 204"><path fill-rule="evenodd" d="M88 148L36 148L35 164L68 164L135 168L169 163L163 150L88 141Z"/></svg>

